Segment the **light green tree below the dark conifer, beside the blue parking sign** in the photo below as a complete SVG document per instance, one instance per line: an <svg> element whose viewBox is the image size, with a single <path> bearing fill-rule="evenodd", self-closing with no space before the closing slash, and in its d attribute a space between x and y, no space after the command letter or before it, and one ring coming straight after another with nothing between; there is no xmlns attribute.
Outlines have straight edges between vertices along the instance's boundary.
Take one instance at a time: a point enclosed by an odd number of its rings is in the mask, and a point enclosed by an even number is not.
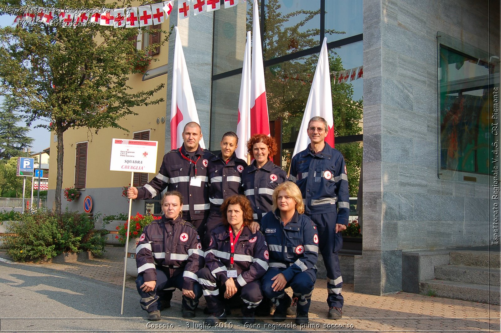
<svg viewBox="0 0 501 333"><path fill-rule="evenodd" d="M2 197L21 198L23 196L23 177L16 176L18 158L11 157L7 163L0 163L0 189ZM32 177L26 177L26 193L31 195ZM25 195L28 197L28 195Z"/></svg>

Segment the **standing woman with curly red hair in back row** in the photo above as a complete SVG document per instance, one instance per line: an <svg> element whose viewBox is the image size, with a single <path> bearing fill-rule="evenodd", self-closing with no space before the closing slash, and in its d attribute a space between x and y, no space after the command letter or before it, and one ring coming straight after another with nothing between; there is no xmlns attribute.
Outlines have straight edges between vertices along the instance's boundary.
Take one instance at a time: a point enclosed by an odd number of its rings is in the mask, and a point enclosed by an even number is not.
<svg viewBox="0 0 501 333"><path fill-rule="evenodd" d="M277 154L277 142L273 137L255 134L247 141L247 151L254 161L242 172L244 194L249 199L254 211L253 219L258 223L272 210L273 190L287 181L287 174L281 167L273 164L273 156ZM256 231L256 225L251 229Z"/></svg>

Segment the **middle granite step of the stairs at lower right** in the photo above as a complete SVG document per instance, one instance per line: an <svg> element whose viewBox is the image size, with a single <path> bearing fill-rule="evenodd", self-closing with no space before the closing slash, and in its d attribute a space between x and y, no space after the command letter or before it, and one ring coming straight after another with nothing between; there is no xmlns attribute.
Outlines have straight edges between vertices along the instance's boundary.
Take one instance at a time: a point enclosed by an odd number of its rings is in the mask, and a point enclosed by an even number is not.
<svg viewBox="0 0 501 333"><path fill-rule="evenodd" d="M497 268L464 265L440 265L435 266L435 278L437 280L499 286L501 273Z"/></svg>

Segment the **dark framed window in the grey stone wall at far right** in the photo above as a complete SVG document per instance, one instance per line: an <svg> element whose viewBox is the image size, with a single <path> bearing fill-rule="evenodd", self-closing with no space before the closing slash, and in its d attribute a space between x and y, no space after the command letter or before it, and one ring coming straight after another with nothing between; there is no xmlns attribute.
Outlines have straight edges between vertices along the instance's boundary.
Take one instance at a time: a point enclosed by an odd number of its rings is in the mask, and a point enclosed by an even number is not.
<svg viewBox="0 0 501 333"><path fill-rule="evenodd" d="M489 172L488 98L498 59L472 46L457 51L441 44L444 38L438 39L439 178L484 182L476 175Z"/></svg>

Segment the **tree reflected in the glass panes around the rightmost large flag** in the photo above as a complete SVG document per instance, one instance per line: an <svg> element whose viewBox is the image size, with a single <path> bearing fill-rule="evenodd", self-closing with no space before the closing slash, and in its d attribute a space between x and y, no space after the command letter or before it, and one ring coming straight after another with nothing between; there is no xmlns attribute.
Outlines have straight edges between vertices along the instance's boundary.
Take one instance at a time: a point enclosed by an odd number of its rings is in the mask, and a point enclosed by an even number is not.
<svg viewBox="0 0 501 333"><path fill-rule="evenodd" d="M247 30L252 30L252 7L247 12ZM320 29L306 29L305 25L319 20L320 9L315 11L298 10L289 14L281 11L278 0L266 3L264 27L265 60L309 49L319 45ZM292 24L292 22L297 22ZM326 30L326 34L344 34L335 30ZM319 50L320 51L320 50ZM335 50L328 51L331 72L345 70L341 57ZM282 118L282 141L294 142L303 119L306 102L310 94L311 82L318 62L318 53L301 57L265 69L266 93L270 119ZM353 100L353 86L349 83L335 84L331 75L332 111L335 136L359 134L362 128L362 99ZM336 145L346 160L350 196L357 196L362 165L362 146L359 142ZM287 168L291 161L291 151L284 151Z"/></svg>

